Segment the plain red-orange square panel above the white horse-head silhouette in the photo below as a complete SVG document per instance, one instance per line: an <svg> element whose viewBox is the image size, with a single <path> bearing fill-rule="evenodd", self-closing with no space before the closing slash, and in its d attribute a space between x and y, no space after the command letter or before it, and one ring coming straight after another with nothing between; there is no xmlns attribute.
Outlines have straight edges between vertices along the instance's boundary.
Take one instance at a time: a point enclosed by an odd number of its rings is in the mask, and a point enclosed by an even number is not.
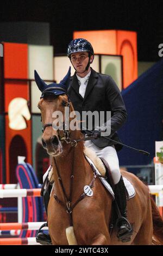
<svg viewBox="0 0 163 256"><path fill-rule="evenodd" d="M28 45L4 42L4 78L28 77Z"/></svg>

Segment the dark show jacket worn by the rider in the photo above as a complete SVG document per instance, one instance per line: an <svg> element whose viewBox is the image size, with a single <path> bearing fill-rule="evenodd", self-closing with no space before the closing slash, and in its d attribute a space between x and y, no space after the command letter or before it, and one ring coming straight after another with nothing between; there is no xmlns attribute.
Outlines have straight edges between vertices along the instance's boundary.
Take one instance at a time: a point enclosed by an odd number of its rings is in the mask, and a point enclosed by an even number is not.
<svg viewBox="0 0 163 256"><path fill-rule="evenodd" d="M116 131L120 129L126 121L127 112L120 90L111 76L100 74L91 69L91 75L83 99L79 94L79 83L75 72L70 78L68 95L70 96L74 110L80 113L81 118L82 111L111 111L111 133L108 138L121 142ZM106 121L107 120L105 120L105 122ZM85 132L89 133L88 131ZM117 151L122 148L121 145L103 137L92 139L92 142L99 148L110 145L115 145Z"/></svg>

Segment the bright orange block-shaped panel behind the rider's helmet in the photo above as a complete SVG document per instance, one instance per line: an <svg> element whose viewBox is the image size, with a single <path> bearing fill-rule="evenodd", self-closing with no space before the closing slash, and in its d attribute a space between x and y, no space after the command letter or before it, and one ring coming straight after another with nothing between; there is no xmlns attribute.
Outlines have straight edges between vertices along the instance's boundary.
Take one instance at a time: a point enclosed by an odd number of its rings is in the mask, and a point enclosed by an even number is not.
<svg viewBox="0 0 163 256"><path fill-rule="evenodd" d="M137 78L137 35L133 31L75 31L73 39L85 38L95 53L123 56L123 88Z"/></svg>

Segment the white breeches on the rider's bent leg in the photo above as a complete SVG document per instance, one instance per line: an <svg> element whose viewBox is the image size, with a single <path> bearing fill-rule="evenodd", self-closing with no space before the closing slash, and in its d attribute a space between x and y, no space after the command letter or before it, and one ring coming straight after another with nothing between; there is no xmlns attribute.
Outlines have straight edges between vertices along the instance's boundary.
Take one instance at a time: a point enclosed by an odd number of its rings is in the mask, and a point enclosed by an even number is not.
<svg viewBox="0 0 163 256"><path fill-rule="evenodd" d="M108 162L114 184L117 184L120 181L121 173L117 151L114 145L105 148L99 148L91 141L85 141L84 145L85 147L95 151L98 157L103 157L105 161Z"/></svg>

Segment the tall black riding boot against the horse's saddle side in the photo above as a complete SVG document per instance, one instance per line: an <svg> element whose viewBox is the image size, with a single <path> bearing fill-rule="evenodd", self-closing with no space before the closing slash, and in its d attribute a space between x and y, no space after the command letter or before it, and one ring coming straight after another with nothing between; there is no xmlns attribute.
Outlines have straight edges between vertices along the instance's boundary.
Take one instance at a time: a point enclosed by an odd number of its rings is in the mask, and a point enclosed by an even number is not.
<svg viewBox="0 0 163 256"><path fill-rule="evenodd" d="M132 228L127 220L127 198L126 187L121 176L120 181L115 185L115 200L118 204L122 217L117 220L116 233L122 242L130 241Z"/></svg>

